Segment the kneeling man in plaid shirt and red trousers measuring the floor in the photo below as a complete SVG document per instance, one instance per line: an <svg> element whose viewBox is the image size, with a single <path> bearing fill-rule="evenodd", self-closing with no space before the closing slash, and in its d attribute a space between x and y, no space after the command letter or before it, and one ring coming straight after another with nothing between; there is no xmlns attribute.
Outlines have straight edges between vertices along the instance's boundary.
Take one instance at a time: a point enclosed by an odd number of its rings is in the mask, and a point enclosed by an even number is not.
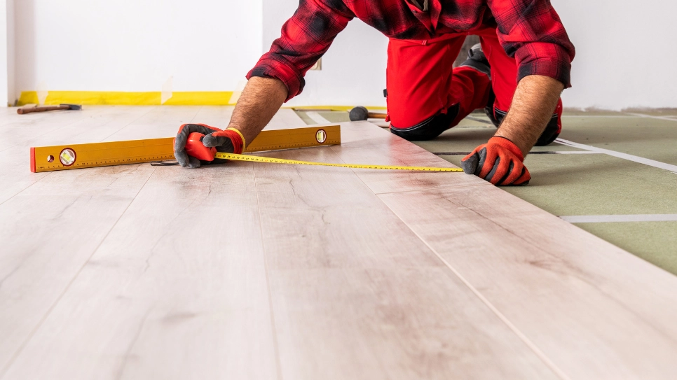
<svg viewBox="0 0 677 380"><path fill-rule="evenodd" d="M306 71L355 17L390 38L386 92L393 134L434 139L485 108L498 131L463 159L463 169L495 185L528 183L524 157L561 131L559 95L570 87L575 55L549 0L301 0L282 36L249 71L228 129L182 126L177 160L199 167L184 150L191 132L207 134L205 146L241 153L282 103L301 93ZM470 34L481 45L452 69Z"/></svg>

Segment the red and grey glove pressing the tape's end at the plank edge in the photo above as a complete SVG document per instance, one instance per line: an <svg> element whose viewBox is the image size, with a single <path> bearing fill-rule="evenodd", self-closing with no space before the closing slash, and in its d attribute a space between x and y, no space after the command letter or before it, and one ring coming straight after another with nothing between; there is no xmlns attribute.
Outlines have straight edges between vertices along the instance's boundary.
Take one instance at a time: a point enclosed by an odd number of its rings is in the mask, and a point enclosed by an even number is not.
<svg viewBox="0 0 677 380"><path fill-rule="evenodd" d="M531 174L521 150L505 137L493 136L463 158L463 171L494 185L528 185Z"/></svg>

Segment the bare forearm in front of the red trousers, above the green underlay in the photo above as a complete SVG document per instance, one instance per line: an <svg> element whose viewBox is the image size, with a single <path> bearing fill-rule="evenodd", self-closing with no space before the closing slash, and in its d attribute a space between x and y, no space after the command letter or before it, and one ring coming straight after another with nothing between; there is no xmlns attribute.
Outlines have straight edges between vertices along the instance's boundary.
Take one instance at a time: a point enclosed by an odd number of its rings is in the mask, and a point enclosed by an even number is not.
<svg viewBox="0 0 677 380"><path fill-rule="evenodd" d="M547 76L526 76L517 85L510 112L500 125L496 136L512 141L529 153L543 133L557 106L564 85Z"/></svg>

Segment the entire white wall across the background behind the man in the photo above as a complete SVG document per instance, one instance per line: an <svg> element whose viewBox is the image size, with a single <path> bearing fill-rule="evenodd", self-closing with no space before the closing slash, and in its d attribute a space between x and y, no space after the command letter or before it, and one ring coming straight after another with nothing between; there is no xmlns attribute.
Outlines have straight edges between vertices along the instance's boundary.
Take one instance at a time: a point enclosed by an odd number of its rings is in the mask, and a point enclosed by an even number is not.
<svg viewBox="0 0 677 380"><path fill-rule="evenodd" d="M0 0L1 11L13 0ZM280 34L299 0L17 0L0 93L37 90L229 91ZM552 0L577 48L566 106L677 107L677 3ZM11 21L11 20L10 20ZM11 56L15 43L15 57ZM292 105L385 104L386 45L360 20L336 38ZM9 52L8 59L4 54ZM12 75L12 67L16 67ZM15 90L12 85L15 84ZM0 99L2 104L3 99ZM10 99L13 101L13 99Z"/></svg>

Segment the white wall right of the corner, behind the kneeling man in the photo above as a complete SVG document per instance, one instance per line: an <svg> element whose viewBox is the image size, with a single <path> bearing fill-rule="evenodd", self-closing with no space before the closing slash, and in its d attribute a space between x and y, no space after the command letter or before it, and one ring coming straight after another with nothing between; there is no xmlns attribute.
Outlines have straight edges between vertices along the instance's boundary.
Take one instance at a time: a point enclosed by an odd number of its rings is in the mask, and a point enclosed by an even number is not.
<svg viewBox="0 0 677 380"><path fill-rule="evenodd" d="M577 56L565 106L620 110L677 107L677 3L666 0L552 0ZM264 50L298 0L264 0ZM354 20L336 38L323 71L310 71L292 104L381 105L387 38Z"/></svg>

